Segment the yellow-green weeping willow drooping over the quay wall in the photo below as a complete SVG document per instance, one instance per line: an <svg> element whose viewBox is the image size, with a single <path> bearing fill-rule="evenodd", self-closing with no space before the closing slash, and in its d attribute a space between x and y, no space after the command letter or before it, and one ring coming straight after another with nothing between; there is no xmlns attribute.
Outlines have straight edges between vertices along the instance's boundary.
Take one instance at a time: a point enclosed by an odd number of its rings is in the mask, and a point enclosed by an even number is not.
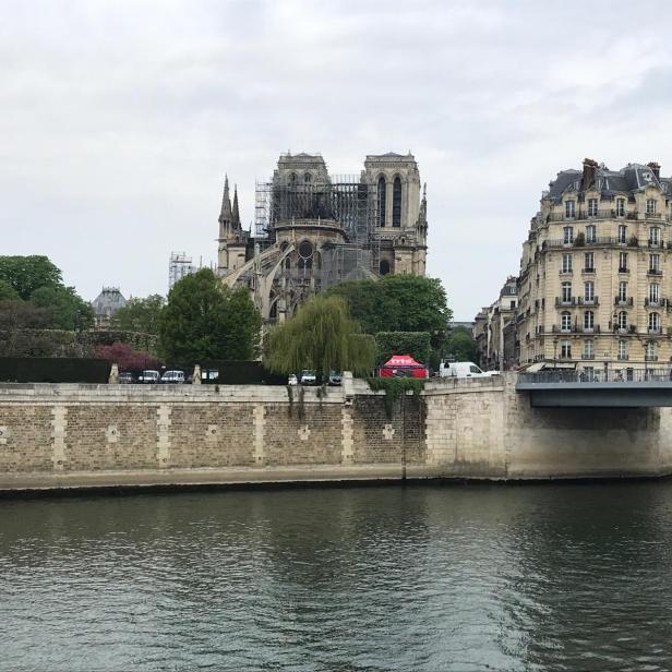
<svg viewBox="0 0 672 672"><path fill-rule="evenodd" d="M348 314L341 297L315 296L287 322L275 326L265 344L266 365L275 373L303 369L321 373L367 374L375 361L375 344Z"/></svg>

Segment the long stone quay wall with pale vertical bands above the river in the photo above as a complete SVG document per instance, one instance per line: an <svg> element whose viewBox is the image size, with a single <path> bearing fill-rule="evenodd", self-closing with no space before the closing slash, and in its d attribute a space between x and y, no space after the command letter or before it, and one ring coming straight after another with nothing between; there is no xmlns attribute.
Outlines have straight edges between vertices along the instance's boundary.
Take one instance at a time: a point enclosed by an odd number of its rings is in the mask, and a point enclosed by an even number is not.
<svg viewBox="0 0 672 672"><path fill-rule="evenodd" d="M672 409L533 409L515 374L343 387L0 385L0 490L672 473Z"/></svg>

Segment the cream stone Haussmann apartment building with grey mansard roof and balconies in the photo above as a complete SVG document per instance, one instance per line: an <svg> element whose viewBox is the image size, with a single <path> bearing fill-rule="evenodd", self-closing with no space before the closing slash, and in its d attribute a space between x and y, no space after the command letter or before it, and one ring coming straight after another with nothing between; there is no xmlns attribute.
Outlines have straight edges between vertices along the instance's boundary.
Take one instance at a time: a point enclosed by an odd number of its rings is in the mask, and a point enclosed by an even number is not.
<svg viewBox="0 0 672 672"><path fill-rule="evenodd" d="M632 376L672 361L672 178L584 160L541 197L523 245L519 364Z"/></svg>

